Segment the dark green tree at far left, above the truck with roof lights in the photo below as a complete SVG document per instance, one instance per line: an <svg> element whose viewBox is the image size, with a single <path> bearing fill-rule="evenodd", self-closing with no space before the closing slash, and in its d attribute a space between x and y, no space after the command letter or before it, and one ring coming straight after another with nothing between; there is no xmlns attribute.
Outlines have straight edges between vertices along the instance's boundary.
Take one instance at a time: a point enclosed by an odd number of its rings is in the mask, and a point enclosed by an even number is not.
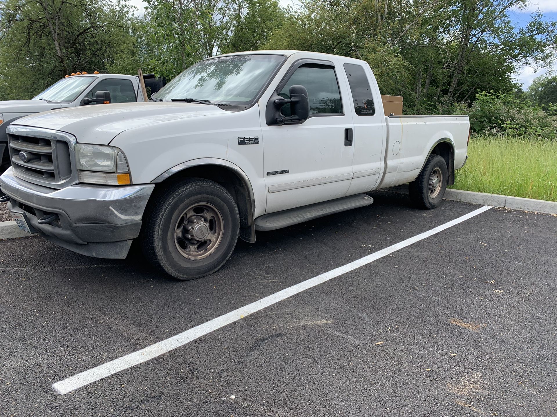
<svg viewBox="0 0 557 417"><path fill-rule="evenodd" d="M6 0L0 4L0 95L29 98L64 75L106 71L133 41L116 0Z"/></svg>

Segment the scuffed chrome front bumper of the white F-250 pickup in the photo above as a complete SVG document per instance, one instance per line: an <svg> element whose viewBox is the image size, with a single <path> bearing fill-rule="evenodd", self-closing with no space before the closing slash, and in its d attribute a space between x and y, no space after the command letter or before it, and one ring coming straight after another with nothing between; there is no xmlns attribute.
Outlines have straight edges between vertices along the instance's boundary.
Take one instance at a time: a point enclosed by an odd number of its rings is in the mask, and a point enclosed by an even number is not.
<svg viewBox="0 0 557 417"><path fill-rule="evenodd" d="M72 185L54 190L14 176L0 176L8 209L25 215L46 239L83 255L124 259L131 240L139 236L141 217L154 184L109 187ZM40 219L55 220L40 224Z"/></svg>

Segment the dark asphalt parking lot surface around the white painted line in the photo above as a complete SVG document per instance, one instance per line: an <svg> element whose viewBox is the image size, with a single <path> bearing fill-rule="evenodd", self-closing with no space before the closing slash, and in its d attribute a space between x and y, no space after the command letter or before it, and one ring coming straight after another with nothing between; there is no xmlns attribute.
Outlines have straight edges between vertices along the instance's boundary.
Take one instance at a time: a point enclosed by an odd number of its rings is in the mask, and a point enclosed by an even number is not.
<svg viewBox="0 0 557 417"><path fill-rule="evenodd" d="M0 241L0 415L557 415L557 217L490 209L153 360L52 384L476 210L407 196L260 232L180 282Z"/></svg>

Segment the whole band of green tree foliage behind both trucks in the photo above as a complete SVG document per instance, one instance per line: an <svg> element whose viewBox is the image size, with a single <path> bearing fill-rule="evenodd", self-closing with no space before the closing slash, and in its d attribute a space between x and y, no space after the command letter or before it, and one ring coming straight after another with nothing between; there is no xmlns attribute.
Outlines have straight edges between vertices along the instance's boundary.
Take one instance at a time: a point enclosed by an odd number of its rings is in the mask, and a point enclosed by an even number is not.
<svg viewBox="0 0 557 417"><path fill-rule="evenodd" d="M146 0L140 13L125 1L0 0L0 98L29 98L80 70L142 67L170 79L219 53L299 49L364 59L383 93L404 96L405 112L470 112L483 92L515 97L516 69L549 64L557 44L557 23L539 12L513 26L509 12L529 0L302 0L286 9L278 0ZM556 85L536 80L527 97L550 111Z"/></svg>

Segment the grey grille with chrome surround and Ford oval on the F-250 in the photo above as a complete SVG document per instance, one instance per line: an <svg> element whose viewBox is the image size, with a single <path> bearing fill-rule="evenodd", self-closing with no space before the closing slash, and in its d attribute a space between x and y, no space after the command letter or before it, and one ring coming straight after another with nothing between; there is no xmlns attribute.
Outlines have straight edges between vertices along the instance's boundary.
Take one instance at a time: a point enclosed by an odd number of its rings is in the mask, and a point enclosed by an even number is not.
<svg viewBox="0 0 557 417"><path fill-rule="evenodd" d="M77 182L73 136L55 130L8 126L9 156L14 174L52 188Z"/></svg>

